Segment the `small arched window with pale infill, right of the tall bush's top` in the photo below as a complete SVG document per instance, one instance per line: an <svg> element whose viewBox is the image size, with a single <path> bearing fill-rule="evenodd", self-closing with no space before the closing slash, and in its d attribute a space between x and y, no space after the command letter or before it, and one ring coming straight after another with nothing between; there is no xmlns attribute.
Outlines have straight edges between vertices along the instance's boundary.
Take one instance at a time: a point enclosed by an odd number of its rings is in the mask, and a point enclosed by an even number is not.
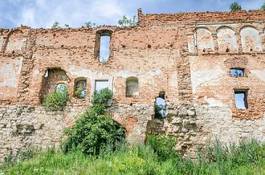
<svg viewBox="0 0 265 175"><path fill-rule="evenodd" d="M134 97L139 95L138 79L130 77L126 80L126 97Z"/></svg>

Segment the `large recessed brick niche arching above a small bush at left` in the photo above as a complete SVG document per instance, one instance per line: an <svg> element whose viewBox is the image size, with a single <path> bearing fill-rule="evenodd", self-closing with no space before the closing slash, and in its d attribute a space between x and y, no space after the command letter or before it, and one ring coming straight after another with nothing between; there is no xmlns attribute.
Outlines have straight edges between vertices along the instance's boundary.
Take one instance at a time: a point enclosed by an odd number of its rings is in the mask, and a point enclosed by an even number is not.
<svg viewBox="0 0 265 175"><path fill-rule="evenodd" d="M68 86L69 77L61 68L47 68L43 77L42 77L42 86L41 86L41 101L43 97L51 92L56 90L58 84L65 84ZM69 89L69 87L68 87Z"/></svg>

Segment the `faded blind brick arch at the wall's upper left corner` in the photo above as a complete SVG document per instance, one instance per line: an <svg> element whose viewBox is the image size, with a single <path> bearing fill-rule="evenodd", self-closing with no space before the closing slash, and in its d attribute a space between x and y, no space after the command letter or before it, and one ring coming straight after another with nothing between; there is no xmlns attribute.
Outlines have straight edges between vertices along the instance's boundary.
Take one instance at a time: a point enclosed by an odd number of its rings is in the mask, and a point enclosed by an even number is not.
<svg viewBox="0 0 265 175"><path fill-rule="evenodd" d="M5 42L5 52L21 51L26 47L27 38L22 30L15 29L8 33Z"/></svg>

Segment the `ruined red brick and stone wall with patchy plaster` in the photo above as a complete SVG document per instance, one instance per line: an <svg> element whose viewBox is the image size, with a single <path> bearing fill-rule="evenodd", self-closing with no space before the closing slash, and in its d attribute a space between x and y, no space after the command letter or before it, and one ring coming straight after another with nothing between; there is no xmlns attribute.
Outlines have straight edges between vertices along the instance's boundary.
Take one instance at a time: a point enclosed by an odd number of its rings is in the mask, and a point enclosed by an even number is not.
<svg viewBox="0 0 265 175"><path fill-rule="evenodd" d="M265 12L139 10L138 17L138 25L127 28L0 30L1 155L58 145L63 128L90 104L99 80L113 90L110 112L126 127L131 143L142 143L146 132L155 131L175 135L181 150L216 137L265 140ZM99 35L106 32L110 57L103 64ZM244 77L231 77L231 68L243 68ZM130 78L138 80L138 92L126 96ZM82 99L74 95L80 79L86 80ZM70 101L65 112L54 115L41 107L41 100L58 83L67 85ZM235 89L247 90L247 109L235 107ZM162 124L153 119L160 91L166 92L169 113Z"/></svg>

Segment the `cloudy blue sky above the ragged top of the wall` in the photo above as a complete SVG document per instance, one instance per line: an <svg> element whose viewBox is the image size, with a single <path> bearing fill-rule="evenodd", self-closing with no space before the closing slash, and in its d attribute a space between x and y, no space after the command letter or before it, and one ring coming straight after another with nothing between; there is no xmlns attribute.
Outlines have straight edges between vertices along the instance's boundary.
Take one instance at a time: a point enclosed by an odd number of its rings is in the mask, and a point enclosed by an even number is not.
<svg viewBox="0 0 265 175"><path fill-rule="evenodd" d="M226 11L235 0L0 0L0 28L21 24L31 27L61 25L80 27L87 21L117 24L123 15L175 13L187 11ZM265 0L237 0L243 9L257 9Z"/></svg>

